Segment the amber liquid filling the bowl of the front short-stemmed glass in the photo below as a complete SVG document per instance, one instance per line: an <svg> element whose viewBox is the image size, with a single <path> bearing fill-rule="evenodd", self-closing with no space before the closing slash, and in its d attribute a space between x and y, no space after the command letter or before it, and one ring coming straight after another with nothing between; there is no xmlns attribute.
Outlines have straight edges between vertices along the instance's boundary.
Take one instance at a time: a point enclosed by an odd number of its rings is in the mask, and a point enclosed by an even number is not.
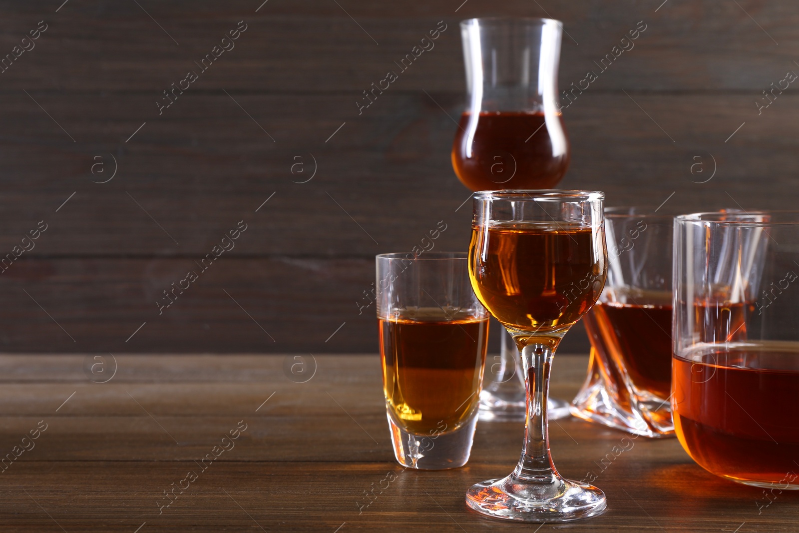
<svg viewBox="0 0 799 533"><path fill-rule="evenodd" d="M471 286L506 326L544 336L574 324L605 284L602 241L568 223L495 223L471 234ZM603 244L603 241L602 241Z"/></svg>

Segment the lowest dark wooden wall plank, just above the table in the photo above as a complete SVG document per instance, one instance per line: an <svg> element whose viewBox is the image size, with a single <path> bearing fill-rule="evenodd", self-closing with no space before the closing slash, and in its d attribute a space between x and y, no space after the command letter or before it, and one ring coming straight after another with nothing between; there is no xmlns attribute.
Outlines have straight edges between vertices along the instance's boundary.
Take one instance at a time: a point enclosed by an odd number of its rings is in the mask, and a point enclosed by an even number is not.
<svg viewBox="0 0 799 533"><path fill-rule="evenodd" d="M43 237L42 237L43 238ZM244 237L242 237L244 238ZM19 259L4 273L3 351L360 352L378 348L373 259ZM181 292L173 283L197 272ZM87 277L90 282L87 282ZM184 284L185 286L185 284ZM165 296L164 291L170 295ZM172 291L175 292L172 292ZM177 298L174 297L177 295ZM161 308L173 299L169 307ZM11 325L9 325L11 324ZM13 327L12 327L13 326ZM141 327L141 328L140 328ZM499 323L491 324L499 352ZM562 351L586 348L582 324Z"/></svg>

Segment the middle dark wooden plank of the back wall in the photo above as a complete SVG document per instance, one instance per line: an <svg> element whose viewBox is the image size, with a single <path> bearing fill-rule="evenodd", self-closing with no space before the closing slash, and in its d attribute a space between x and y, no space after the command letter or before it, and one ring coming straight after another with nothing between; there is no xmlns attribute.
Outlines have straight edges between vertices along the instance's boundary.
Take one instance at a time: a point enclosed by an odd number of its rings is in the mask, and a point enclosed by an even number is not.
<svg viewBox="0 0 799 533"><path fill-rule="evenodd" d="M177 102L185 105L172 116L145 125L133 144L125 137L141 122L125 121L122 109L87 114L88 97L34 94L62 124L84 123L74 135L97 140L93 152L71 142L59 143L60 149L42 145L34 140L37 132L47 132L53 141L66 136L38 113L35 128L26 133L29 142L11 149L17 143L6 141L0 162L12 190L0 197L7 218L0 251L18 245L39 220L50 227L31 256L199 258L241 220L252 229L231 255L372 257L410 249L439 221L447 224L443 246L467 248L471 202L463 203L469 193L449 159L456 125L435 104L456 116L461 97L455 93L432 92L435 101L421 91L387 93L364 117L341 112L347 97L305 97L304 109L294 109L292 97L237 95L277 143L225 94L191 95ZM792 205L793 196L775 197L773 189L793 182L793 153L799 148L793 134L799 113L795 95L786 93L761 116L753 98L743 95L630 96L587 90L564 111L574 156L562 187L605 190L610 204L657 206L676 191L670 205L682 209L734 206L734 201L746 208ZM8 101L16 109L14 122L38 109L24 94ZM319 119L324 109L338 117ZM93 133L109 120L106 111L112 113L114 131L107 136L116 137L113 142ZM104 157L108 173L113 153L117 177L92 183L110 177L90 173L92 153ZM292 182L311 176L309 154L316 158L316 176ZM305 175L300 167L292 175L294 157L303 158ZM54 161L62 165L62 181L54 181L49 171ZM714 167L713 179L699 183ZM770 186L752 187L755 179Z"/></svg>

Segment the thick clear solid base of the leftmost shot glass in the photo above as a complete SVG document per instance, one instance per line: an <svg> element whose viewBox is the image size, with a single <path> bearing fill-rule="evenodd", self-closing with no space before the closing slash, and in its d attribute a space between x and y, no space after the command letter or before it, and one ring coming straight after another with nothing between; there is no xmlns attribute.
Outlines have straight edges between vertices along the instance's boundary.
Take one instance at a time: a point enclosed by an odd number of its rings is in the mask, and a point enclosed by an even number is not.
<svg viewBox="0 0 799 533"><path fill-rule="evenodd" d="M451 432L431 430L427 435L415 435L401 428L386 413L392 432L394 458L403 467L418 470L447 470L462 467L469 460L475 437L477 416L472 415L460 428Z"/></svg>

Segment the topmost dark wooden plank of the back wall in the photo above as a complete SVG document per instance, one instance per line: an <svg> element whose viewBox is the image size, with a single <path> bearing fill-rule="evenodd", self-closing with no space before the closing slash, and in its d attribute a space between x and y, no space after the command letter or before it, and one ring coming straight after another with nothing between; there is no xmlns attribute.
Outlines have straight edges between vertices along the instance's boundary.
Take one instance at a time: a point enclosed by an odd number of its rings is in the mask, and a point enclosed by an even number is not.
<svg viewBox="0 0 799 533"><path fill-rule="evenodd" d="M321 0L260 2L168 2L145 6L161 30L135 3L74 2L54 14L38 2L7 2L3 40L10 50L44 18L50 28L37 48L25 53L6 78L14 89L97 93L147 90L154 97L197 69L227 32L244 20L248 30L201 77L204 89L360 93L443 20L447 30L403 83L415 89L463 90L458 22L487 15L552 17L564 22L562 85L582 79L618 41L644 21L647 29L630 54L623 54L606 89L755 90L765 79L793 68L799 55L793 27L799 13L790 2L660 2L595 0L501 5L402 0L390 5ZM345 12L346 10L346 12ZM348 14L352 18L348 17ZM751 16L751 18L750 18ZM356 21L356 22L354 22ZM759 27L758 27L759 25ZM30 26L30 27L29 27ZM360 26L360 27L359 27ZM769 37L769 35L771 37ZM170 37L171 36L171 37ZM177 46L175 41L179 42ZM773 39L773 40L772 40ZM379 43L378 44L376 44ZM776 44L778 43L778 45ZM66 68L69 63L72 68ZM23 65L25 65L23 67ZM618 69L618 70L617 70ZM13 75L10 75L13 74ZM152 105L153 110L155 106Z"/></svg>

